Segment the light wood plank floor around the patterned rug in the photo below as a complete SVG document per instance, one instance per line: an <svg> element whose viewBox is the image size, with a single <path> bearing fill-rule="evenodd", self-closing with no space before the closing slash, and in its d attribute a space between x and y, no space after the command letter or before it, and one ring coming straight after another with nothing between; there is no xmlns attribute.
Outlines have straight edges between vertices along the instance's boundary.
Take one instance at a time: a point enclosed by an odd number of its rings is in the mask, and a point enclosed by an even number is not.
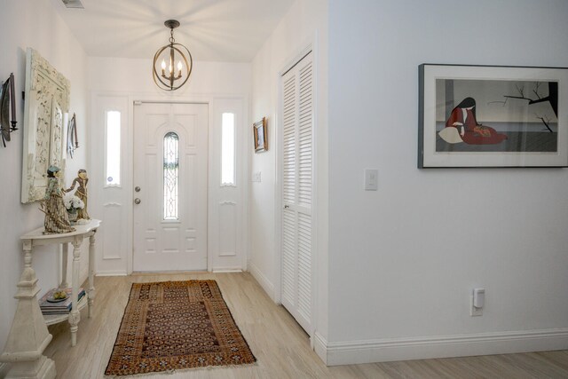
<svg viewBox="0 0 568 379"><path fill-rule="evenodd" d="M51 326L45 355L55 360L58 378L102 378L113 350L133 282L215 279L234 320L256 356L248 367L215 367L143 375L144 378L568 378L568 351L454 359L426 359L326 367L310 350L308 336L281 306L272 303L248 273L144 274L96 278L93 318L83 310L77 345L67 323Z"/></svg>

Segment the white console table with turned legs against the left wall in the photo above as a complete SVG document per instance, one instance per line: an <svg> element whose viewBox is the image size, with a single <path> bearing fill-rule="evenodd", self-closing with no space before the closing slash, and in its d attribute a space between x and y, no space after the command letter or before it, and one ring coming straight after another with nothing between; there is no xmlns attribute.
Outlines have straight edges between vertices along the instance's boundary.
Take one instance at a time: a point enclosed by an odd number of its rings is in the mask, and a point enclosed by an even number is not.
<svg viewBox="0 0 568 379"><path fill-rule="evenodd" d="M55 377L55 364L51 359L43 356L43 351L51 342L51 335L47 330L47 325L68 320L71 325L71 346L77 342L77 329L81 313L79 312L86 304L89 305L89 317L95 288L93 282L95 269L95 233L99 228L100 220L90 220L88 224L74 225L75 232L43 234L43 227L20 237L23 241L24 251L24 271L18 283L18 292L15 298L18 299L18 307L12 321L12 328L8 335L4 352L0 356L0 361L12 363L7 378L44 378ZM89 237L89 288L86 289L85 296L81 302L77 303L76 298L79 294L79 276L81 245L83 239ZM36 272L32 268L33 249L36 246L61 243L63 245L63 267L62 280L59 288L67 288L67 244L73 245L73 273L72 273L72 303L71 312L61 315L43 316L37 302L37 294L40 288L37 287Z"/></svg>

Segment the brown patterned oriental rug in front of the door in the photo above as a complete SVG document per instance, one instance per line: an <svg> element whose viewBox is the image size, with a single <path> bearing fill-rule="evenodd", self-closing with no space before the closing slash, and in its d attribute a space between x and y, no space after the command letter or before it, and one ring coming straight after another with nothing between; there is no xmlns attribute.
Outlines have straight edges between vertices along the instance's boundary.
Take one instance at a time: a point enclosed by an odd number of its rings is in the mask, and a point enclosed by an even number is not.
<svg viewBox="0 0 568 379"><path fill-rule="evenodd" d="M255 361L215 280L134 283L105 375Z"/></svg>

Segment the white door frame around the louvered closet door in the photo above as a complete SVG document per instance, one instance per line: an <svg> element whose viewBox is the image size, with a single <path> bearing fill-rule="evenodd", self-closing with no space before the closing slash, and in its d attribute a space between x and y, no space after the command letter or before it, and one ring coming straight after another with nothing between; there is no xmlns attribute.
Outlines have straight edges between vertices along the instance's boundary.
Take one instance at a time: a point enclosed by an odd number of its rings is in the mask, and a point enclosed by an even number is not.
<svg viewBox="0 0 568 379"><path fill-rule="evenodd" d="M274 251L276 252L274 259L274 267L276 277L274 278L274 300L276 304L282 304L281 301L281 291L282 291L282 193L283 193L283 158L281 156L283 151L283 130L282 125L284 124L284 109L282 108L282 99L284 88L282 86L282 76L286 74L292 67L296 66L307 54L312 51L312 93L313 93L313 114L312 114L312 312L311 312L311 330L306 332L310 336L310 344L312 349L314 347L315 335L317 330L317 311L318 308L318 263L319 263L319 253L318 253L318 228L317 228L317 215L318 215L318 146L317 141L319 138L318 129L315 127L318 125L318 38L312 36L312 39L307 43L304 43L303 47L298 49L294 54L291 54L291 58L288 59L285 64L283 64L280 71L277 74L276 81L278 83L278 105L277 105L277 129L275 133L276 143L275 152L276 155L276 186L274 186Z"/></svg>

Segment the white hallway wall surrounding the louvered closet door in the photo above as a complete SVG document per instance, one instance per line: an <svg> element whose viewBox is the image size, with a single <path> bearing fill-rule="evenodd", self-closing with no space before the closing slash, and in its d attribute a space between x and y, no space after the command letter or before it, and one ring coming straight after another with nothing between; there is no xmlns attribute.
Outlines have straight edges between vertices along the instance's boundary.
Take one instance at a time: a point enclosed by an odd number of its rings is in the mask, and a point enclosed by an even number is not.
<svg viewBox="0 0 568 379"><path fill-rule="evenodd" d="M261 173L261 182L250 186L250 265L249 270L264 290L274 300L280 298L278 283L280 259L278 223L274 209L280 206L275 188L280 186L276 178L278 124L278 92L282 70L294 63L294 59L306 47L314 49L316 69L315 114L315 182L318 201L317 230L314 266L317 272L317 311L315 324L320 334L327 330L327 0L297 0L280 20L272 36L256 54L252 64L252 120L264 116L268 119L268 151L252 153L251 174ZM252 150L251 150L252 151Z"/></svg>

